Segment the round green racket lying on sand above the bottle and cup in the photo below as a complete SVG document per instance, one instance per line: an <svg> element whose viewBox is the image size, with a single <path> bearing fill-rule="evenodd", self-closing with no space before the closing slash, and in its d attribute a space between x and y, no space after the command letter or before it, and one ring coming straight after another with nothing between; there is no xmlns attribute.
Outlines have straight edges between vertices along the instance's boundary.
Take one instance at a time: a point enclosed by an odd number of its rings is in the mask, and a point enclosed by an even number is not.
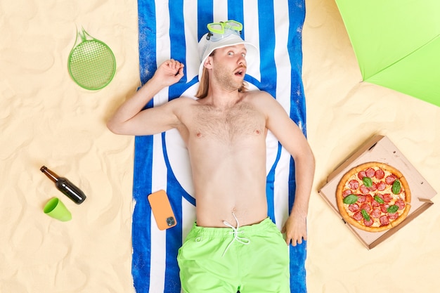
<svg viewBox="0 0 440 293"><path fill-rule="evenodd" d="M78 44L78 40L81 40ZM82 88L102 89L115 76L116 60L112 50L102 41L91 37L84 28L77 32L77 39L67 60L70 77Z"/></svg>

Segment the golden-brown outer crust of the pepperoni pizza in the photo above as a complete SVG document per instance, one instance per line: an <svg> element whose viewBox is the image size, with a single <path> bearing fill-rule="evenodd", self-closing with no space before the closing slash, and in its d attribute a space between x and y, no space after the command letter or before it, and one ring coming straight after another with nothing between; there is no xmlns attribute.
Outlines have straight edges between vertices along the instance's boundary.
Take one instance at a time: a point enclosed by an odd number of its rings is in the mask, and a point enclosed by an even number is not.
<svg viewBox="0 0 440 293"><path fill-rule="evenodd" d="M363 183L363 181L358 178L358 173L361 171L365 171L368 168L373 168L375 170L382 169L385 171L386 174L389 174L389 173L393 174L397 179L399 179L399 181L401 183L401 190L403 190L404 199L401 199L401 198L400 199L405 202L405 208L398 210L397 212L399 213L399 216L396 219L390 220L389 224L387 224L387 225L383 225L383 226L381 225L381 226L375 226L375 227L374 226L370 226L370 227L365 226L363 224L363 219L361 221L356 221L356 219L354 219L349 214L349 212L347 211L349 204L344 204L344 202L343 202L343 200L344 200L343 193L344 193L344 190L348 189L347 188L348 182L350 180L355 179L361 185ZM371 191L368 194L371 195L372 197L374 197L375 195L381 195L381 192L379 190L375 190L375 191ZM397 200L397 198L395 198L395 197L401 197L402 195L392 195L392 196L394 197L393 200ZM384 164L384 163L380 163L380 162L367 162L367 163L361 164L357 167L350 169L349 171L347 171L346 174L344 174L344 176L342 176L341 180L339 181L339 184L337 185L337 189L336 189L337 207L338 207L339 212L340 212L342 218L344 219L344 221L346 221L346 223L349 223L351 226L354 226L356 228L359 228L361 230L365 230L368 232L381 232L384 230L389 230L389 229L399 225L399 223L401 223L404 219L406 219L406 216L408 216L408 213L410 211L410 201L411 201L410 188L408 185L408 181L406 181L406 178L403 176L403 174L401 174L401 172L399 170L397 170L396 168L394 168L388 164ZM382 212L382 214L384 214L384 213Z"/></svg>

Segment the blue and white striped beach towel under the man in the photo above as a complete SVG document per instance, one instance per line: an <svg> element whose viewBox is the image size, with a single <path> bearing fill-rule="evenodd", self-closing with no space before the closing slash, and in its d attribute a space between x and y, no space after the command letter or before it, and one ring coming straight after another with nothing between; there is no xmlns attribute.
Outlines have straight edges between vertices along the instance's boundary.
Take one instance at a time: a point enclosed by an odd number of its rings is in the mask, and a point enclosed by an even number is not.
<svg viewBox="0 0 440 293"><path fill-rule="evenodd" d="M150 79L168 58L185 64L181 82L164 89L146 106L181 95L198 86L197 44L209 22L238 20L242 37L259 48L260 60L248 64L245 80L268 91L306 133L302 86L304 0L138 0L141 81ZM283 226L295 197L294 162L269 133L267 138L268 216ZM137 293L179 293L176 256L195 221L195 199L188 153L176 130L137 136L134 157L132 275ZM158 230L147 196L164 189L179 225ZM291 292L306 292L306 242L290 246Z"/></svg>

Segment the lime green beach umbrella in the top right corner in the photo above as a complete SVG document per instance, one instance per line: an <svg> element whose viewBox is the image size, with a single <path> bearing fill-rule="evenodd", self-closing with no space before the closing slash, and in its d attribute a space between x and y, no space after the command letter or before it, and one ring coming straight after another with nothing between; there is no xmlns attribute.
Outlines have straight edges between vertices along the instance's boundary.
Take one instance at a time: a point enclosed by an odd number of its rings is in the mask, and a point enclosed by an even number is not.
<svg viewBox="0 0 440 293"><path fill-rule="evenodd" d="M440 0L335 0L364 82L440 106Z"/></svg>

